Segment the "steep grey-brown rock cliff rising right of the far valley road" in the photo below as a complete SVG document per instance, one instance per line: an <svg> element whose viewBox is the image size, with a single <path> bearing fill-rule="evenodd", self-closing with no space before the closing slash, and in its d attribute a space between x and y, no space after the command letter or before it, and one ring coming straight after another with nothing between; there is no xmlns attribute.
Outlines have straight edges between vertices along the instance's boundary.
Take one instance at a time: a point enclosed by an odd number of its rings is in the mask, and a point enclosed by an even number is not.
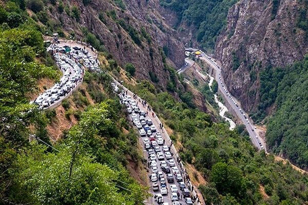
<svg viewBox="0 0 308 205"><path fill-rule="evenodd" d="M301 7L296 0L241 0L230 8L215 56L230 92L246 110L259 102L262 69L285 67L307 53L306 34L297 28Z"/></svg>

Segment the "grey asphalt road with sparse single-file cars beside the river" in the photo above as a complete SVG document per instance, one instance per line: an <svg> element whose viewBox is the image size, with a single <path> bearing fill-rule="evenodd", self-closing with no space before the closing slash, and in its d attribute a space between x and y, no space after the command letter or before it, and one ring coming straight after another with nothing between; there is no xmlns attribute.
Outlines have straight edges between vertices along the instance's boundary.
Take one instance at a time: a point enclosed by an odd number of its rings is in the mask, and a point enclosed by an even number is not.
<svg viewBox="0 0 308 205"><path fill-rule="evenodd" d="M224 99L228 102L228 104L231 106L233 111L236 113L237 117L242 121L242 123L246 126L246 129L249 133L249 137L252 141L252 143L260 150L261 145L264 149L266 149L265 143L263 140L259 137L257 130L254 128L253 123L251 122L249 116L247 113L241 109L240 103L229 93L227 87L225 86L223 76L221 75L221 68L217 66L213 58L210 58L205 53L202 52L200 55L200 59L205 61L207 64L209 64L216 72L215 72L215 80L218 82L218 89L222 93ZM227 94L228 93L228 94ZM231 97L229 97L229 94ZM231 98L235 101L235 103L231 100ZM243 112L243 113L241 113ZM245 118L245 116L246 118ZM261 143L261 145L260 145ZM265 150L266 151L266 150Z"/></svg>

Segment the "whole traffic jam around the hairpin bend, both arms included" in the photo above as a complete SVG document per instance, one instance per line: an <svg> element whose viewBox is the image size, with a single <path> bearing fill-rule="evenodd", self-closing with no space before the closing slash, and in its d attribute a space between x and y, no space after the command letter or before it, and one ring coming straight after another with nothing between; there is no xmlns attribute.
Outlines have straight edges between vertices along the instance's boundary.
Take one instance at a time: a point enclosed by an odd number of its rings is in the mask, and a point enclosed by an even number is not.
<svg viewBox="0 0 308 205"><path fill-rule="evenodd" d="M69 46L58 47L57 44L51 44L47 48L47 52L53 54L56 65L62 71L63 76L54 86L45 90L34 101L30 102L37 104L40 110L62 101L82 82L83 66L92 72L100 71L97 59L93 59L85 48L78 46L73 48Z"/></svg>

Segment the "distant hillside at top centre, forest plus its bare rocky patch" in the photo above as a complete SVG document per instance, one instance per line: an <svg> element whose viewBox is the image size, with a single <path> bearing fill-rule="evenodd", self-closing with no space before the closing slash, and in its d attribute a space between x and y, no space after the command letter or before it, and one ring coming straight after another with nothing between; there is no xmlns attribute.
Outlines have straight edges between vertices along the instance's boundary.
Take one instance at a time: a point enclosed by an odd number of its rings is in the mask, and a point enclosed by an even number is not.
<svg viewBox="0 0 308 205"><path fill-rule="evenodd" d="M229 8L238 0L160 0L161 15L176 28L181 41L188 47L213 52L217 37L226 26Z"/></svg>

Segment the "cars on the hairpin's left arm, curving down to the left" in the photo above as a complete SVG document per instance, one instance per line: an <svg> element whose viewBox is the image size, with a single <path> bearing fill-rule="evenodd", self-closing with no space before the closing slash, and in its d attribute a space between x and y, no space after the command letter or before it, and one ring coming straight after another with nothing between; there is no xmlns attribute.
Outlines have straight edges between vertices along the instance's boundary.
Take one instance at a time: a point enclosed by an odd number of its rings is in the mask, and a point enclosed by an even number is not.
<svg viewBox="0 0 308 205"><path fill-rule="evenodd" d="M48 108L53 103L64 97L74 89L77 84L83 79L82 65L76 59L68 57L62 48L52 44L47 49L53 50L53 56L56 64L61 69L63 76L60 82L56 83L50 89L40 94L33 102L39 106L39 109Z"/></svg>

